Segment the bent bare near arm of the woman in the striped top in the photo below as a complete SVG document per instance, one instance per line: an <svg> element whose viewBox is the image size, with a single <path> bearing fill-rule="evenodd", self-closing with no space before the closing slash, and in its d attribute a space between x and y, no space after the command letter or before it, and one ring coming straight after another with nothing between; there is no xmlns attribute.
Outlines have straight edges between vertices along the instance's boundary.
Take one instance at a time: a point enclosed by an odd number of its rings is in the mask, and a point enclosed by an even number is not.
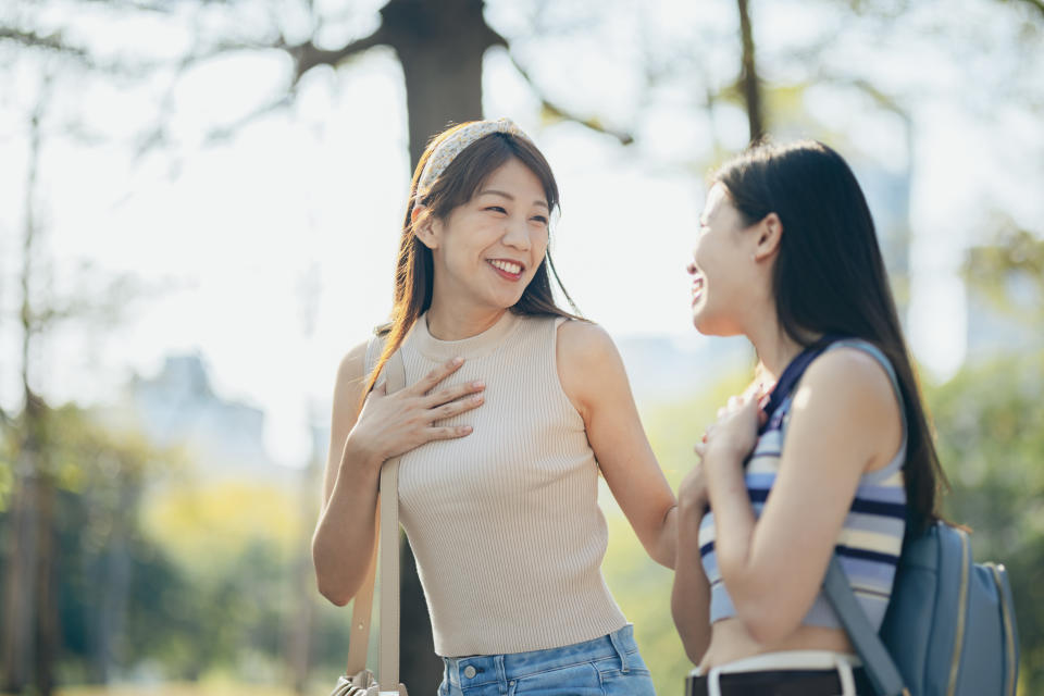
<svg viewBox="0 0 1044 696"><path fill-rule="evenodd" d="M742 462L757 405L739 399L708 430L704 464L714 549L736 616L762 644L785 638L819 593L860 476L898 449L902 425L887 375L855 349L826 353L794 395L772 495L755 518Z"/></svg>

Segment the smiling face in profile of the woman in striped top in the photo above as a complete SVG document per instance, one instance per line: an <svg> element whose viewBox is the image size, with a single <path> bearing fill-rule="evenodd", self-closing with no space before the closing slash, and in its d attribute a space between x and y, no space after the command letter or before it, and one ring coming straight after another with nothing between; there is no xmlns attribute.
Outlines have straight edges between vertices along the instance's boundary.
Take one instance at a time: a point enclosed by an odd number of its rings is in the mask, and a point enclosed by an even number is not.
<svg viewBox="0 0 1044 696"><path fill-rule="evenodd" d="M756 235L743 223L729 192L714 184L699 221L688 273L693 276L693 325L701 334L744 333L743 318L762 281L757 273Z"/></svg>

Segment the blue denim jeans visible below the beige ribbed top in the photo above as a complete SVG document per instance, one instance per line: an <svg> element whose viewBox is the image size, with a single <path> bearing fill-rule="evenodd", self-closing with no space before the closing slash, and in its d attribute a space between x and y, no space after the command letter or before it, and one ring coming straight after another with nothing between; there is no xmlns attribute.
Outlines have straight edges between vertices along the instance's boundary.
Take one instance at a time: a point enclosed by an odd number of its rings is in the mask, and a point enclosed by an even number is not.
<svg viewBox="0 0 1044 696"><path fill-rule="evenodd" d="M558 648L509 652L507 655L470 655L444 657L446 680L458 687L520 679L552 669L618 658L621 671L627 671L627 655L637 652L634 626L627 624L604 636Z"/></svg>

